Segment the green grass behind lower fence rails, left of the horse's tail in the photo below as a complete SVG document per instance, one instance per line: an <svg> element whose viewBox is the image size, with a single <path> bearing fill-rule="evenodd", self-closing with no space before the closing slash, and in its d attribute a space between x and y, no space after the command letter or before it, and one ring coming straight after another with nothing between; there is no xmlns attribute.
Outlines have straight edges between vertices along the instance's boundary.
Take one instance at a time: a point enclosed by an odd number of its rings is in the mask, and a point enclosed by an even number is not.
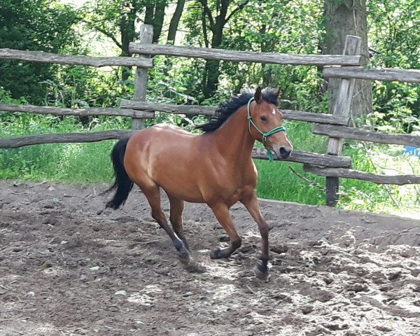
<svg viewBox="0 0 420 336"><path fill-rule="evenodd" d="M92 118L83 127L73 117L10 113L0 123L0 137L53 132L80 132L126 128L124 118ZM113 141L92 144L43 144L0 151L0 178L54 181L109 181L109 153Z"/></svg>

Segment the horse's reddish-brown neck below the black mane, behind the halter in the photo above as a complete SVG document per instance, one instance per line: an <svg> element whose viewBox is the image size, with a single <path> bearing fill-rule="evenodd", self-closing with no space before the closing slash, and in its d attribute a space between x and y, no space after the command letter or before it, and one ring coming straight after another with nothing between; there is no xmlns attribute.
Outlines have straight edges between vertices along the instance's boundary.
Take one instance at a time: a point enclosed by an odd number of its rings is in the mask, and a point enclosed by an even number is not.
<svg viewBox="0 0 420 336"><path fill-rule="evenodd" d="M218 150L238 163L249 160L255 140L248 131L246 106L242 106L214 131L214 142Z"/></svg>

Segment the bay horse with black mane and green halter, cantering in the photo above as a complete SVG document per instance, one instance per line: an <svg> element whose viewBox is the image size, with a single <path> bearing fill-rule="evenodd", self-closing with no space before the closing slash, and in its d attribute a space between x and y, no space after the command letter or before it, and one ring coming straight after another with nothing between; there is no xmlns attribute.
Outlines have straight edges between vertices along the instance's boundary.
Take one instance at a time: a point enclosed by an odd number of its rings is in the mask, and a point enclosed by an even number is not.
<svg viewBox="0 0 420 336"><path fill-rule="evenodd" d="M116 189L106 207L118 209L133 187L143 191L152 217L165 229L181 258L190 258L183 233L184 201L207 203L230 238L228 248L211 250L211 258L229 258L241 246L229 213L236 202L244 204L258 224L262 237L260 279L267 277L269 227L260 213L255 194L257 170L251 158L255 140L261 141L269 156L288 158L292 145L281 126L277 108L280 90L246 90L222 103L208 123L197 126L202 134L191 134L179 127L158 124L120 139L111 160ZM160 205L160 188L169 197L169 220ZM107 191L109 191L107 190Z"/></svg>

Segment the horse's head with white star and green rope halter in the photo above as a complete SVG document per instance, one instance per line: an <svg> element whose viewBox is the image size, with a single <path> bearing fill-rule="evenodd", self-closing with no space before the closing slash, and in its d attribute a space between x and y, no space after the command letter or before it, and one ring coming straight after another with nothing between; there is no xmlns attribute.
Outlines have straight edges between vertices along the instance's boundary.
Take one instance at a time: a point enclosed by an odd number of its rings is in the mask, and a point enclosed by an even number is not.
<svg viewBox="0 0 420 336"><path fill-rule="evenodd" d="M279 98L280 89L274 92ZM286 137L286 129L281 126L283 115L276 104L262 99L261 88L255 91L253 99L248 103L248 122L251 136L261 141L267 151L273 151L277 158L286 159L292 153L293 146ZM271 159L270 159L271 160Z"/></svg>

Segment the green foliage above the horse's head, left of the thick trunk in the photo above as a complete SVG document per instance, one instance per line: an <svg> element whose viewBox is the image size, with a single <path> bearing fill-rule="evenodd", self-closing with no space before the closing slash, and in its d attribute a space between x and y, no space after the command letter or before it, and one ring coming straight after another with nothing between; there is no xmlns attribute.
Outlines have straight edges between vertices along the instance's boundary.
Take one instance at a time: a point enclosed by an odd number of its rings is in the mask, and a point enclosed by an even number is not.
<svg viewBox="0 0 420 336"><path fill-rule="evenodd" d="M209 1L209 8L216 8L216 3L218 1ZM235 1L230 8L235 8L234 5ZM184 21L188 28L188 45L205 45L201 13L201 7L196 2L190 3ZM225 27L222 44L218 48L316 53L323 29L322 13L322 6L310 1L247 1L246 6L230 18L229 25ZM202 69L201 73L203 72ZM318 105L325 102L323 80L316 69L308 71L308 68L303 66L223 62L219 92L214 95L223 97L221 92L238 93L250 84L281 87L283 103L293 102L293 106L282 104L285 109L304 109L311 106L311 111L326 111L325 104L321 104L321 109ZM305 94L299 96L298 92ZM198 98L201 103L200 95Z"/></svg>

